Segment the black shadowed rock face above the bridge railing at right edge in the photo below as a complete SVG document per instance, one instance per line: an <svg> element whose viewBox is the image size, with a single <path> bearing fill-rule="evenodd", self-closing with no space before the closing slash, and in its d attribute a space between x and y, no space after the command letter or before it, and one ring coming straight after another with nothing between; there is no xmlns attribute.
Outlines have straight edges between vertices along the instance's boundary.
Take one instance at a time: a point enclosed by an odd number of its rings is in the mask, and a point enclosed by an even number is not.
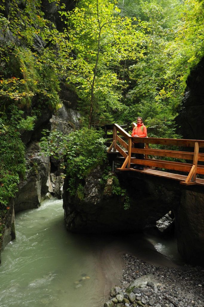
<svg viewBox="0 0 204 307"><path fill-rule="evenodd" d="M204 126L204 58L187 78L186 93L176 117L177 133L186 139L203 140Z"/></svg>

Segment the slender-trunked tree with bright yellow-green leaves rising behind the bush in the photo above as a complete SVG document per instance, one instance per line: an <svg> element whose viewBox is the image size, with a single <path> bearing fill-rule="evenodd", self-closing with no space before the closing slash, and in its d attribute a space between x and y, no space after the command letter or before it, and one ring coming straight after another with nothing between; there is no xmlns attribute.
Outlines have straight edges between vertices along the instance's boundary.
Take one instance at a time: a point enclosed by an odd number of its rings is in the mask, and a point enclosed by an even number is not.
<svg viewBox="0 0 204 307"><path fill-rule="evenodd" d="M119 111L123 108L120 99L124 80L119 78L117 68L123 60L143 56L139 21L120 17L119 12L115 4L106 0L82 2L72 12L61 12L72 44L67 81L76 85L83 101L89 101L89 128L97 106ZM100 100L102 95L105 99Z"/></svg>

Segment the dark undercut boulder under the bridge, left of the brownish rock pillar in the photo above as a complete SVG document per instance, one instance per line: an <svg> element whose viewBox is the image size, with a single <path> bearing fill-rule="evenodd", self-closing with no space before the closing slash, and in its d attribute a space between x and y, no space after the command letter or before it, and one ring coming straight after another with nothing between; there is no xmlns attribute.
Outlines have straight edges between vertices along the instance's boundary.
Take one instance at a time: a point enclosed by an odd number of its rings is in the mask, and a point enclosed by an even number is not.
<svg viewBox="0 0 204 307"><path fill-rule="evenodd" d="M113 175L114 176L114 175ZM102 186L102 170L98 167L85 179L84 198L70 196L67 191L69 179L65 179L63 206L68 230L73 232L106 233L118 231L141 231L152 227L156 221L179 203L179 190L165 187L158 178L152 183L145 178L133 178L123 172L122 186L128 190L130 208L124 210L124 199L113 194L111 182Z"/></svg>

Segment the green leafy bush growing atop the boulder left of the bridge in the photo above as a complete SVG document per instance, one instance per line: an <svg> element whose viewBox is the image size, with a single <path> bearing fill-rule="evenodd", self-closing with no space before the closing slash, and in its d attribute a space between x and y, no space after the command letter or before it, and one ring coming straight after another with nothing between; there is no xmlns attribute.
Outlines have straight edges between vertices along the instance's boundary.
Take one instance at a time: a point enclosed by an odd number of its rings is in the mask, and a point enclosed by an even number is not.
<svg viewBox="0 0 204 307"><path fill-rule="evenodd" d="M49 131L44 130L44 134ZM105 139L102 131L82 128L64 135L54 130L48 136L41 139L41 148L44 153L55 158L64 156L62 167L69 177L68 191L71 195L77 195L83 199L83 179L97 165L102 165L106 160Z"/></svg>

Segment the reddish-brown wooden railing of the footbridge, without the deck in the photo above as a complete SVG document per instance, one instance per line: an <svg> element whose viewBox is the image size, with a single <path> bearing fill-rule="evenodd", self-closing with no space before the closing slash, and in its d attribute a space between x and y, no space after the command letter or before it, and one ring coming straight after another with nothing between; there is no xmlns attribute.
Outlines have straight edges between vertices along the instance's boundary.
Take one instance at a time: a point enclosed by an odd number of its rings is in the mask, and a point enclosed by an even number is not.
<svg viewBox="0 0 204 307"><path fill-rule="evenodd" d="M133 123L134 127L136 124ZM122 136L122 137L121 137ZM144 143L144 149L132 147L133 143ZM194 152L151 149L149 144L158 144L166 146L193 147ZM199 148L204 148L204 140L184 140L170 138L133 138L121 126L114 124L113 126L113 142L109 146L108 152L112 149L119 152L124 157L124 163L121 169L126 167L130 169L131 163L145 165L147 167L156 167L161 169L170 169L174 171L187 172L187 178L183 184L195 184L196 175L204 175L204 165L198 165L198 161L204 161L204 153L199 153ZM145 155L144 160L131 157L132 153L142 153ZM191 160L192 163L150 159L149 156L170 157L183 160Z"/></svg>

